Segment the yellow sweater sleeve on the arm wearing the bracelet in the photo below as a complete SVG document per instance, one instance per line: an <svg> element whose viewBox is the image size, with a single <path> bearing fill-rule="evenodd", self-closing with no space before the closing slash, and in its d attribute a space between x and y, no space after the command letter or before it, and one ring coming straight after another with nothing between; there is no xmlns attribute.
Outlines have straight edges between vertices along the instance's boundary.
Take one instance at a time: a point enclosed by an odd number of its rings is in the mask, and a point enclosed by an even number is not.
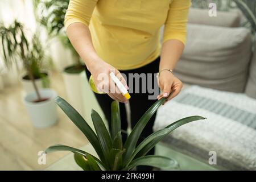
<svg viewBox="0 0 256 182"><path fill-rule="evenodd" d="M164 24L163 43L170 39L186 42L188 11L191 0L173 0Z"/></svg>

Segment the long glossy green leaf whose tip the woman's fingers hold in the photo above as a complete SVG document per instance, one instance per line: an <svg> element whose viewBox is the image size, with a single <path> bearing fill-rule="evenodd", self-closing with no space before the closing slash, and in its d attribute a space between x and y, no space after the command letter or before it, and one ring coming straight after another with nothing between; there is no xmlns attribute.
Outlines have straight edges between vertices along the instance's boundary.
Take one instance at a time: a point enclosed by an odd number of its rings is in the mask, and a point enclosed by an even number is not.
<svg viewBox="0 0 256 182"><path fill-rule="evenodd" d="M139 137L141 136L142 130L147 125L147 122L150 120L152 115L158 110L158 108L163 104L166 98L161 98L160 100L156 101L146 113L143 114L142 118L134 126L133 130L131 131L130 135L128 136L123 148L126 148L125 156L123 158L123 163L126 164L133 151L136 147Z"/></svg>

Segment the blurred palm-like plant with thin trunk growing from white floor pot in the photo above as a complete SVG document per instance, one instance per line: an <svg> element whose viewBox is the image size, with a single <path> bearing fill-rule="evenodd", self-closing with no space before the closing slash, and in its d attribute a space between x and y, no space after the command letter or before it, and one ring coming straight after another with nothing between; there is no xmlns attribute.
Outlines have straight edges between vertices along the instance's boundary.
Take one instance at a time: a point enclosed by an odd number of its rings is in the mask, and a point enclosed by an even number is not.
<svg viewBox="0 0 256 182"><path fill-rule="evenodd" d="M38 35L34 34L31 42L28 42L23 24L14 20L9 27L5 27L3 23L0 24L0 41L0 50L6 67L10 68L14 63L18 65L18 62L21 61L40 101L41 97L35 84L35 78L44 77L40 68L45 57Z"/></svg>

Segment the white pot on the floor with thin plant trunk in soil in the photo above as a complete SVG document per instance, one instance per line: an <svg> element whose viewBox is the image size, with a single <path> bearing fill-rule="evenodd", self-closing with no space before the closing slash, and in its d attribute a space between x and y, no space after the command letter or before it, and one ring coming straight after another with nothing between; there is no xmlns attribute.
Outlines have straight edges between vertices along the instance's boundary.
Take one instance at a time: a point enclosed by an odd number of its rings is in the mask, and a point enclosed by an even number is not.
<svg viewBox="0 0 256 182"><path fill-rule="evenodd" d="M30 115L32 125L43 129L55 125L57 122L56 104L54 102L57 93L52 89L41 89L39 92L42 98L48 98L48 100L35 103L33 101L37 99L36 93L32 92L23 98L23 103L28 115Z"/></svg>

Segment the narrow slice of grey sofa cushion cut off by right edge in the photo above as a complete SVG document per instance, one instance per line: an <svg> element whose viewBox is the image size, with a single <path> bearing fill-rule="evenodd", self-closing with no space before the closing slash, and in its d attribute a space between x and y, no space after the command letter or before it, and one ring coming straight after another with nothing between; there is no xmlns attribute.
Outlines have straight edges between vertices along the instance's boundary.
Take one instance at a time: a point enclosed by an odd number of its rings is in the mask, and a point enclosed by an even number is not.
<svg viewBox="0 0 256 182"><path fill-rule="evenodd" d="M256 46L254 56L250 64L249 77L248 82L246 84L245 93L247 94L247 96L256 99Z"/></svg>

